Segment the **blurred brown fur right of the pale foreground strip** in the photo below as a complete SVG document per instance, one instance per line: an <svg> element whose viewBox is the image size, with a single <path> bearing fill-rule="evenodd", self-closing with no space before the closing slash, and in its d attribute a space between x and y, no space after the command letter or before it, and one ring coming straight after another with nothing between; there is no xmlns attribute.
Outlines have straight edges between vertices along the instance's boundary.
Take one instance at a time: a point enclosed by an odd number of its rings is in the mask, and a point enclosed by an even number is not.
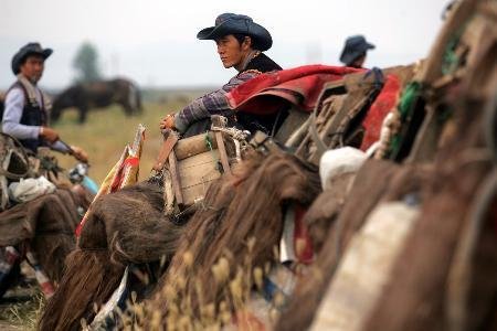
<svg viewBox="0 0 497 331"><path fill-rule="evenodd" d="M457 129L437 156L435 173L425 188L422 215L396 259L391 281L366 323L367 330L441 330L447 327L444 300L448 270L462 229L472 221L468 212L478 199L475 192L491 167L489 159L475 154L478 148L485 150L482 148L482 116L478 116L482 104L467 100L455 104L458 106ZM490 252L494 254L487 256L489 265L496 263L495 235L493 243ZM480 287L487 288L487 293L494 292L494 300L495 275L495 268L475 275L480 277ZM491 318L488 311L491 302L479 303L468 307L472 320L464 328L485 329L484 318ZM493 305L495 313L495 301Z"/></svg>

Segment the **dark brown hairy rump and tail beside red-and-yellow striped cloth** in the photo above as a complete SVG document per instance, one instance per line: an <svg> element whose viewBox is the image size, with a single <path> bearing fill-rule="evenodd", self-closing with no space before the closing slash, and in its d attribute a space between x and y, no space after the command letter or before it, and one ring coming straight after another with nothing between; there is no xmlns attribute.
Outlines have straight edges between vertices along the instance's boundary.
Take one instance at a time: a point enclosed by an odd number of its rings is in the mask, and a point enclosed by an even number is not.
<svg viewBox="0 0 497 331"><path fill-rule="evenodd" d="M95 201L78 249L40 321L41 330L78 330L95 316L120 281L126 265L172 256L180 227L162 214L162 192L140 183Z"/></svg>

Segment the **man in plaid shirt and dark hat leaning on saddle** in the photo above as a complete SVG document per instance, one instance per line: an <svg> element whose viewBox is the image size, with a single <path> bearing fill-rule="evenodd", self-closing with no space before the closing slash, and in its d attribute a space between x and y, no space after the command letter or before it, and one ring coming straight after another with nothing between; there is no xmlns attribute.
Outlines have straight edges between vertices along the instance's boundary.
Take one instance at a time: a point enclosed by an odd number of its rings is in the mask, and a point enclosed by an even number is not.
<svg viewBox="0 0 497 331"><path fill-rule="evenodd" d="M225 97L232 88L262 73L282 70L262 53L273 44L269 32L247 15L223 13L215 19L214 26L201 30L197 38L214 40L223 66L234 67L239 74L221 89L193 100L175 115L168 115L160 122L160 128L175 128L183 137L194 136L210 129L210 116L215 114L228 117L230 126L242 127L251 132L271 132L275 116L235 115Z"/></svg>

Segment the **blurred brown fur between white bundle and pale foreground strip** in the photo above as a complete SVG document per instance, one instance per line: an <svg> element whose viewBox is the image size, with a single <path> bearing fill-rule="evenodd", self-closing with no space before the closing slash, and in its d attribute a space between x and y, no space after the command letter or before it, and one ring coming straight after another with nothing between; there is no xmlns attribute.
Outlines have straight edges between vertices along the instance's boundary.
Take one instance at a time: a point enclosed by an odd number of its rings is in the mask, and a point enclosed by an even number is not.
<svg viewBox="0 0 497 331"><path fill-rule="evenodd" d="M311 270L299 279L288 309L278 319L276 330L305 330L310 325L336 266L369 213L380 201L395 200L405 193L419 191L424 177L424 171L414 171L412 167L400 168L387 161L368 160L361 167L342 211L329 226ZM319 215L310 210L309 216L313 214ZM310 220L307 222L313 223Z"/></svg>

